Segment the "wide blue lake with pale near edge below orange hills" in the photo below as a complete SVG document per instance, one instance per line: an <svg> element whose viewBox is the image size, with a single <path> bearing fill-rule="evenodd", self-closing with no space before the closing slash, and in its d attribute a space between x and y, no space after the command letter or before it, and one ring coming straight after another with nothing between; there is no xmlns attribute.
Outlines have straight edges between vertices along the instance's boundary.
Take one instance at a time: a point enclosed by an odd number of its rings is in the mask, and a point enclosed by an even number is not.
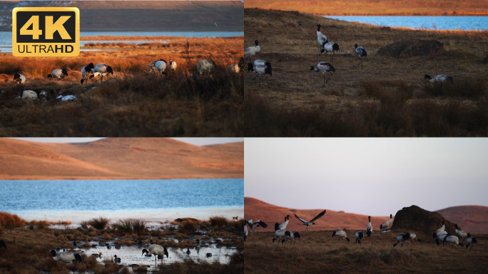
<svg viewBox="0 0 488 274"><path fill-rule="evenodd" d="M0 211L73 224L98 216L156 224L213 215L243 218L244 180L0 181Z"/></svg>

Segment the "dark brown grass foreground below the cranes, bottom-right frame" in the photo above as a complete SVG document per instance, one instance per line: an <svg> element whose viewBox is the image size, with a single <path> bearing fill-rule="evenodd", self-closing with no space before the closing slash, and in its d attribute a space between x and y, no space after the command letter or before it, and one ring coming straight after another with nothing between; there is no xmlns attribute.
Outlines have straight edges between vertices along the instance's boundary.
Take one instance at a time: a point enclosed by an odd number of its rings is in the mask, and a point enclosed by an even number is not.
<svg viewBox="0 0 488 274"><path fill-rule="evenodd" d="M488 235L474 235L478 243L469 250L437 246L432 235L422 233L417 233L420 244L394 248L397 234L408 232L404 230L375 231L361 246L355 243L356 230L346 230L350 243L332 238L332 232L300 231L294 245L290 240L273 244L274 233L249 233L245 273L480 273L488 266Z"/></svg>

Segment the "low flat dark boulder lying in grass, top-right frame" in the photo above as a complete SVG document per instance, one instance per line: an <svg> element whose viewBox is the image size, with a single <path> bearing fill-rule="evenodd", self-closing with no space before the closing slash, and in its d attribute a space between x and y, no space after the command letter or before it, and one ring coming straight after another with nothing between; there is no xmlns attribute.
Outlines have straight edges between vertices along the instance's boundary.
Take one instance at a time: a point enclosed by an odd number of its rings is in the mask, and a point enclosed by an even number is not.
<svg viewBox="0 0 488 274"><path fill-rule="evenodd" d="M437 40L407 39L383 46L378 50L378 54L395 58L407 58L432 55L443 50L444 45Z"/></svg>

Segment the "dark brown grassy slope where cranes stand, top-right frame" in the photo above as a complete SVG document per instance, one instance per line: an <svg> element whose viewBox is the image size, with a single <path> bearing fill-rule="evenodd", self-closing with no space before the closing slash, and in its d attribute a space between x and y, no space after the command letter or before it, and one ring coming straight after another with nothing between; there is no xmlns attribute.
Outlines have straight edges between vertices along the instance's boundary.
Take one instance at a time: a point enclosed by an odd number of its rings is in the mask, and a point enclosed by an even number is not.
<svg viewBox="0 0 488 274"><path fill-rule="evenodd" d="M339 44L319 56L316 24ZM245 9L245 46L270 61L270 87L245 76L245 136L487 136L488 31L426 31L357 24L288 11ZM405 59L378 49L404 39L442 42L444 51ZM364 46L364 68L354 45ZM327 61L323 85L310 66ZM424 81L447 74L454 83ZM327 73L327 77L330 74Z"/></svg>

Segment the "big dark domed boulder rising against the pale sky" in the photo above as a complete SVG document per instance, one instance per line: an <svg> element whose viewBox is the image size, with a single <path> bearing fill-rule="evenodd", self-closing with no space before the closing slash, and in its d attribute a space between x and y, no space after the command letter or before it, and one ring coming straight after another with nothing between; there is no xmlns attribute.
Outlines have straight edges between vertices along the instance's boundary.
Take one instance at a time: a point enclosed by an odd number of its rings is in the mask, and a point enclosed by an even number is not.
<svg viewBox="0 0 488 274"><path fill-rule="evenodd" d="M446 231L449 234L456 235L454 224L445 220L442 215L437 212L431 212L419 208L417 205L412 205L408 208L402 208L395 214L392 229L405 229L412 232L423 232L427 235L432 235L438 228L442 226L442 220L446 225Z"/></svg>

